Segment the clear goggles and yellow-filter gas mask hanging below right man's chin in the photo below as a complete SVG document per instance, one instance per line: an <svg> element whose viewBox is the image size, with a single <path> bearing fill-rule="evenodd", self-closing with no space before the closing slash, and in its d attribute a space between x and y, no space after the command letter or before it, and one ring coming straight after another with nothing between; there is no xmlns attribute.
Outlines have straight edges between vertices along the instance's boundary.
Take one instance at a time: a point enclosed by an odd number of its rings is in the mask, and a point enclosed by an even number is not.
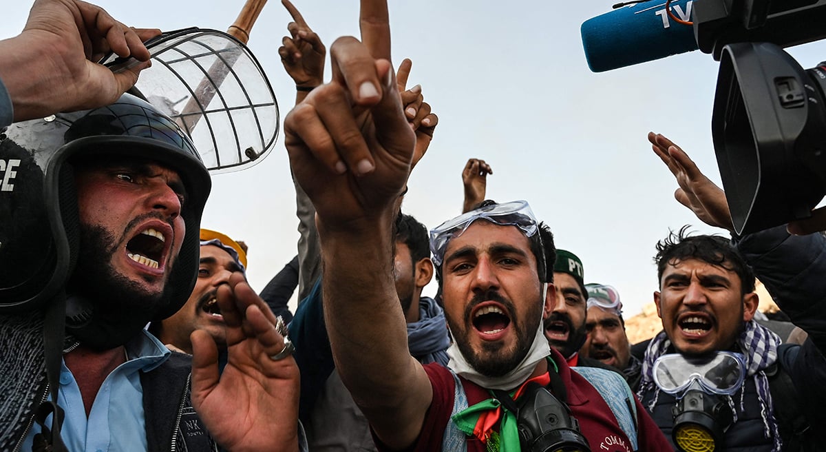
<svg viewBox="0 0 826 452"><path fill-rule="evenodd" d="M722 450L733 424L729 397L743 386L743 355L728 351L699 357L664 354L654 362L654 383L677 398L672 439L681 452Z"/></svg>

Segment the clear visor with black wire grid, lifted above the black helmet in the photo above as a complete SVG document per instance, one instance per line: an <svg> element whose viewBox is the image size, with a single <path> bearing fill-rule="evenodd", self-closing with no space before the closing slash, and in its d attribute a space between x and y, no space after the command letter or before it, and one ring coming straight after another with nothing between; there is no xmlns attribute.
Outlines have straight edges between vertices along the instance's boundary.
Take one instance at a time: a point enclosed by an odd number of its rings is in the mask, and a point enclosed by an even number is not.
<svg viewBox="0 0 826 452"><path fill-rule="evenodd" d="M255 56L223 31L186 28L146 41L152 66L135 88L192 138L211 174L257 164L278 136L278 102ZM135 59L101 64L128 69Z"/></svg>

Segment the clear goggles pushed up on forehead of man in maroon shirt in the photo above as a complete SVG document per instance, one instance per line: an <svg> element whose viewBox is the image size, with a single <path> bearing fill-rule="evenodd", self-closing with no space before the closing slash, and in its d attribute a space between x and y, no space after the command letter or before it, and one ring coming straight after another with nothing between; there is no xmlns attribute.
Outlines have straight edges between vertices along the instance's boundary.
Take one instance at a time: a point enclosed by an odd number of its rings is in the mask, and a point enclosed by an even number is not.
<svg viewBox="0 0 826 452"><path fill-rule="evenodd" d="M444 250L453 237L461 236L473 221L479 219L490 221L500 226L516 226L531 237L539 231L534 212L530 210L527 201L512 201L503 204L491 204L463 213L452 220L444 221L430 231L430 251L433 253L434 264L441 265L444 259Z"/></svg>

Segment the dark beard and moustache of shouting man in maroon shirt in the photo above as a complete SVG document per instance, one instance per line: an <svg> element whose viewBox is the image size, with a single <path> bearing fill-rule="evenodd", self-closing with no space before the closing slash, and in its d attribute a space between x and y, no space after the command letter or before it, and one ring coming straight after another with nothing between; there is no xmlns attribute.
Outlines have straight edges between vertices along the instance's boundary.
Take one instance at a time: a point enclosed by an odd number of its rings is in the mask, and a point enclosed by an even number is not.
<svg viewBox="0 0 826 452"><path fill-rule="evenodd" d="M460 326L457 321L453 321L450 316L446 316L446 318L453 340L456 341L456 345L464 358L468 360L468 364L482 375L496 378L516 369L529 353L531 346L534 345L536 329L539 327L539 322L542 321L542 300L540 297L535 303L530 304L529 306L535 306L535 308L529 308L525 320L518 322L516 321L519 318L516 316L516 307L506 297L502 297L498 292L477 294L465 307L463 318L469 319L473 308L486 301L501 303L508 313L510 326L513 326L516 334L516 345L513 350L506 350L505 344L501 342L487 341L482 341L482 350L473 350L468 341L468 335L470 334L468 329ZM447 313L445 312L445 314ZM470 322L469 328L473 328L472 322Z"/></svg>

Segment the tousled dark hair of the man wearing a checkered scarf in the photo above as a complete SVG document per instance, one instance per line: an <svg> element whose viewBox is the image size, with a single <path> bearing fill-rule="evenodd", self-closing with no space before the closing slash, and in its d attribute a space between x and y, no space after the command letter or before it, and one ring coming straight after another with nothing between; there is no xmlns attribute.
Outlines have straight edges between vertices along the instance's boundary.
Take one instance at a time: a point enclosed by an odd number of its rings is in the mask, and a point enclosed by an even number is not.
<svg viewBox="0 0 826 452"><path fill-rule="evenodd" d="M668 236L657 242L657 283L662 281L666 265L675 261L698 259L707 264L721 267L737 274L740 278L741 295L754 292L754 272L746 264L743 256L723 236L689 236L689 226L680 231L669 231Z"/></svg>

